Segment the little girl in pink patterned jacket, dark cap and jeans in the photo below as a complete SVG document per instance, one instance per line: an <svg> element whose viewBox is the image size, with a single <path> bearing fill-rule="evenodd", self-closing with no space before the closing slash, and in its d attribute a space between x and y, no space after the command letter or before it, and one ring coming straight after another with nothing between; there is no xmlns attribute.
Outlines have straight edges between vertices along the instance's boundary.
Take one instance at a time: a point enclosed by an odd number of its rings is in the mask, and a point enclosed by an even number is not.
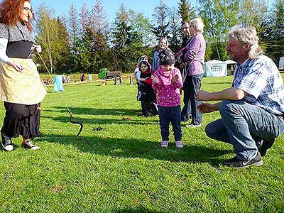
<svg viewBox="0 0 284 213"><path fill-rule="evenodd" d="M172 51L165 49L159 55L160 67L152 76L152 87L158 92L158 111L160 119L160 146L168 147L169 124L173 126L175 146L183 148L182 129L180 126L180 89L182 77L180 70L174 67L175 56Z"/></svg>

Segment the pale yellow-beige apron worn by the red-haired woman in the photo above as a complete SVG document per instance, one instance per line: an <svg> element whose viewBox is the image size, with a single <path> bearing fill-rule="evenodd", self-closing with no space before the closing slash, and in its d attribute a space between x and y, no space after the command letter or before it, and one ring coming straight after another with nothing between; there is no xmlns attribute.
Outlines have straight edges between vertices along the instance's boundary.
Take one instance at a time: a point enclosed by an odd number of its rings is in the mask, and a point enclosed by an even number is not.
<svg viewBox="0 0 284 213"><path fill-rule="evenodd" d="M15 104L32 105L43 101L47 89L31 59L11 58L24 67L23 72L0 63L0 100Z"/></svg>

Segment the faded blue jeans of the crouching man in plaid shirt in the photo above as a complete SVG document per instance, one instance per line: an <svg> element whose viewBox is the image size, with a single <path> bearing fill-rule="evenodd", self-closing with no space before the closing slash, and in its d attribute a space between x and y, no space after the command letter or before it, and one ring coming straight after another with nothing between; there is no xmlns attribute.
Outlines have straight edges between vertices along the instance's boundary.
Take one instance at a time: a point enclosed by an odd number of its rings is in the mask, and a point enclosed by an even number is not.
<svg viewBox="0 0 284 213"><path fill-rule="evenodd" d="M258 148L254 137L277 138L284 133L284 119L256 105L224 100L219 107L222 119L206 126L209 138L231 143L240 160L251 160Z"/></svg>

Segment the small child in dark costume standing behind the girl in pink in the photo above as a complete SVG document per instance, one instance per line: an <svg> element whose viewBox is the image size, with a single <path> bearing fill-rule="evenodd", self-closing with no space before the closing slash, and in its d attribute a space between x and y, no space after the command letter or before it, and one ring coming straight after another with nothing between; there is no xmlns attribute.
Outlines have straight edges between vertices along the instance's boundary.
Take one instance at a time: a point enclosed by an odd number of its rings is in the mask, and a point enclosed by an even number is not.
<svg viewBox="0 0 284 213"><path fill-rule="evenodd" d="M143 116L155 116L158 111L155 109L155 94L151 87L151 65L147 60L141 60L138 67L140 72L137 73L139 76L136 76L138 82L137 100L141 101Z"/></svg>

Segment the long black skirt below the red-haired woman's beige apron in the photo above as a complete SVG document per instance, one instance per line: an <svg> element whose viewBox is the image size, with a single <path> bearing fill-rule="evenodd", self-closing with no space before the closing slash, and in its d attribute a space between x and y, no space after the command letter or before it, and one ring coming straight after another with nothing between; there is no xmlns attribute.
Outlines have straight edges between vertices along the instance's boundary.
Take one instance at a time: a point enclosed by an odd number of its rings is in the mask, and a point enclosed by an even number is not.
<svg viewBox="0 0 284 213"><path fill-rule="evenodd" d="M40 136L40 104L25 105L4 102L6 115L1 132L11 138Z"/></svg>

